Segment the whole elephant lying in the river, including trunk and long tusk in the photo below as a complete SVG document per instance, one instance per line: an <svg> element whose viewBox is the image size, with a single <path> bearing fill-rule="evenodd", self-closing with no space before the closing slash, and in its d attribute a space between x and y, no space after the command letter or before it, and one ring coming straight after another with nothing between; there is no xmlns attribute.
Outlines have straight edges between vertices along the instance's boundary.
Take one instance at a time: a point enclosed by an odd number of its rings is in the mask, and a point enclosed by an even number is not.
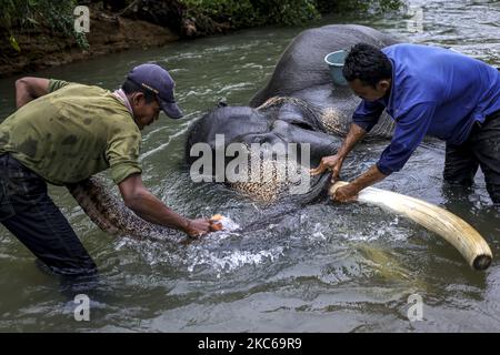
<svg viewBox="0 0 500 355"><path fill-rule="evenodd" d="M312 179L309 168L338 151L361 101L347 85L332 84L323 58L358 42L383 48L397 40L356 24L301 32L284 50L271 79L248 106L219 104L192 122L184 146L191 178L194 181L216 178L216 182L228 183L250 199L272 203L273 209L266 213L269 221L290 212L280 207L286 203L274 202L291 200L296 211L296 206L324 196L323 192L344 183L337 182L329 189L329 174ZM393 129L393 120L383 112L367 136L390 139ZM90 219L108 233L182 242L168 227L137 216L97 178L68 187ZM491 250L481 235L438 206L373 187L362 191L359 200L403 214L438 233L476 270L486 270L491 264ZM261 229L261 222L253 221L243 229Z"/></svg>

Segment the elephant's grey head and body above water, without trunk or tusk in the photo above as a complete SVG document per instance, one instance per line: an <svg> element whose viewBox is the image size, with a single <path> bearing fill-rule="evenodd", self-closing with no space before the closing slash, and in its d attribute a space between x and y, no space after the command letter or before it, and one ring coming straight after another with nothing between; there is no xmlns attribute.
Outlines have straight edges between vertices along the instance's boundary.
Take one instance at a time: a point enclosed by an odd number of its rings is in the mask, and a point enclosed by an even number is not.
<svg viewBox="0 0 500 355"><path fill-rule="evenodd" d="M310 189L297 193L296 200L303 203L316 199L324 190L328 179L310 178L309 168L317 165L322 156L337 152L361 101L348 85L332 83L323 58L333 51L348 50L358 42L383 48L397 43L397 40L374 29L356 24L332 24L301 32L284 50L269 82L250 100L249 106L218 106L190 126L186 143L188 164L193 166L197 163L197 146L204 143L209 146L207 151L212 152L212 156L206 159L207 165L211 162L212 166L208 168L211 172L217 171L213 164L217 160L216 152L227 151L231 144L237 143L242 146L239 154L244 153L243 155L259 161L263 173L257 174L260 180L250 179L252 172L247 169L248 179L229 181L231 187L252 199L273 202L290 197L290 185L297 185L297 181L289 175L294 172L310 183ZM393 120L384 112L368 138L389 139L393 128ZM219 145L223 146L217 146L218 136ZM223 143L220 142L221 136L224 139ZM258 152L251 149L256 143L261 144ZM300 151L298 154L288 151L290 143L294 144L290 146ZM300 154L304 153L304 149L300 148L306 143L309 144L309 166L304 166L307 164L301 161L303 154ZM289 160L286 163L277 162L273 159L276 154L271 154L276 144L284 145L287 158L297 156L296 164ZM241 160L244 161L246 158ZM230 163L230 156L224 156L224 168ZM247 162L247 165L256 166L251 162ZM199 168L197 165L194 171L191 169L191 175ZM217 173L220 174L220 169ZM202 174L207 176L206 172Z"/></svg>

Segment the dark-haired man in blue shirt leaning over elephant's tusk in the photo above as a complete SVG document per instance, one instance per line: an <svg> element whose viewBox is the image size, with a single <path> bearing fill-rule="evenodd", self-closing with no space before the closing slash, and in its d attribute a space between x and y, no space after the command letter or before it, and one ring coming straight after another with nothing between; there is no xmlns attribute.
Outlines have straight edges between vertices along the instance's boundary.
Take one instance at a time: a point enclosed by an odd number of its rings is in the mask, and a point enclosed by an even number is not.
<svg viewBox="0 0 500 355"><path fill-rule="evenodd" d="M479 166L493 203L500 203L500 72L484 62L430 45L394 44L379 50L356 44L343 68L349 87L363 101L336 155L311 171L328 169L332 179L359 140L383 110L396 130L380 160L366 173L339 187L333 200L352 201L403 168L424 135L447 142L444 180L470 185Z"/></svg>

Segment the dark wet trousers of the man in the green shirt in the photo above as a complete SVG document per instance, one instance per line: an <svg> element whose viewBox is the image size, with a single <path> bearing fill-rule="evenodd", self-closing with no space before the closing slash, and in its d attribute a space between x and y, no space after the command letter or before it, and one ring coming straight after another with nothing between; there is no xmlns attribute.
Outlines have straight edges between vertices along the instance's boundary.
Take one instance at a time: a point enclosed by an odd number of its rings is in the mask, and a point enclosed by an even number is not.
<svg viewBox="0 0 500 355"><path fill-rule="evenodd" d="M74 231L47 194L47 183L9 154L0 155L0 223L51 272L97 274Z"/></svg>

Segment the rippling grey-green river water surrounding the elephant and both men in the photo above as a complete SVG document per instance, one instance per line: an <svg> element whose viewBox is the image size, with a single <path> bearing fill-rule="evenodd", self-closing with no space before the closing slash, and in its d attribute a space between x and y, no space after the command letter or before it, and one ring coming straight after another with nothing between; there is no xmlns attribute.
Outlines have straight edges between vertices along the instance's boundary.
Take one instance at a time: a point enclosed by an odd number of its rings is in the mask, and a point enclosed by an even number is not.
<svg viewBox="0 0 500 355"><path fill-rule="evenodd" d="M362 23L500 65L499 1L411 6L406 17L330 16L313 27ZM253 29L32 74L114 89L136 64L166 65L186 118L161 116L143 131L144 183L179 213L221 213L244 224L266 215L266 209L224 186L192 183L182 165L186 131L219 100L248 103L301 30ZM16 79L0 80L1 118L13 111ZM386 144L357 150L343 178L373 164ZM442 165L443 144L427 142L378 187L438 204L471 223L493 252L486 272L472 271L436 234L378 207L311 204L259 231L213 233L172 250L101 232L64 189L51 186L101 272L102 284L90 295L90 321L74 320L76 305L59 281L41 273L30 252L0 225L0 332L498 332L500 212L482 174L468 195L443 190ZM103 178L111 187L109 175ZM411 295L422 300L421 321L408 317Z"/></svg>

